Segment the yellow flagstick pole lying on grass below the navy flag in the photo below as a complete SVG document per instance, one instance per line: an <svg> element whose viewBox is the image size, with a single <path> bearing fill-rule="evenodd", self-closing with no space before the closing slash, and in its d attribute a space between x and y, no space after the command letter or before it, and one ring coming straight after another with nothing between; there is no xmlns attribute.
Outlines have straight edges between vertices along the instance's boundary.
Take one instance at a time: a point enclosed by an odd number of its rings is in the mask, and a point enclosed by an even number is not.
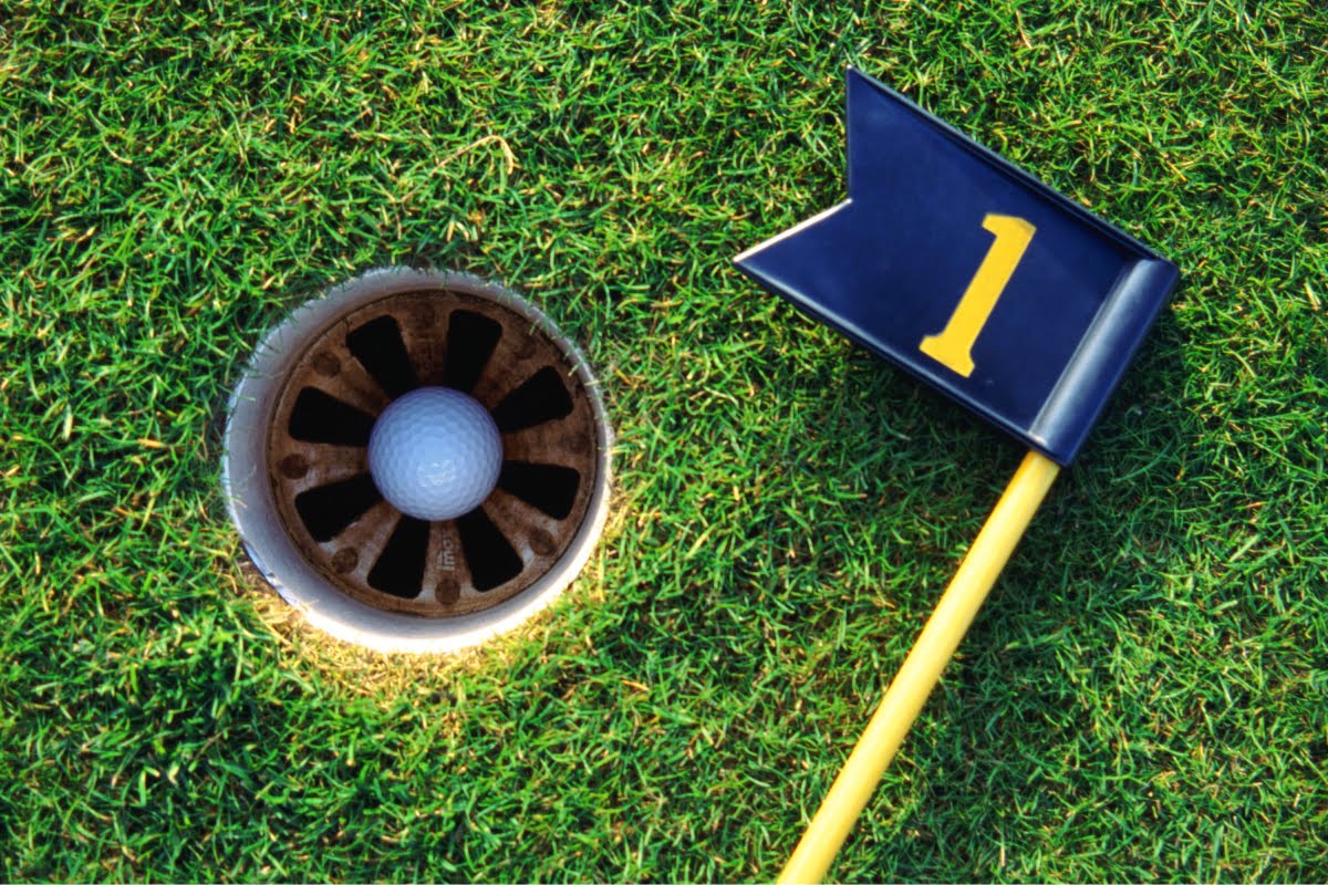
<svg viewBox="0 0 1328 885"><path fill-rule="evenodd" d="M940 679L942 670L959 647L959 641L973 622L1009 555L1023 537L1038 504L1056 480L1060 467L1046 456L1029 451L1015 471L987 524L977 533L955 579L946 588L936 610L914 642L899 667L899 674L886 690L880 706L871 716L858 746L849 755L811 825L802 835L789 864L780 874L781 884L819 882L825 878L853 829L858 815L867 805L876 782L886 774L895 751L903 743L922 705Z"/></svg>

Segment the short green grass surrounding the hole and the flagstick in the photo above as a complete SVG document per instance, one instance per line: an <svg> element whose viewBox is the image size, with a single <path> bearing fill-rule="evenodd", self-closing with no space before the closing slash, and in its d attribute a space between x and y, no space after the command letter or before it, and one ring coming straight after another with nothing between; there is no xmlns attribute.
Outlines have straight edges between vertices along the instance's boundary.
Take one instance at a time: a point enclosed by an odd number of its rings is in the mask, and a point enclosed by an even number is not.
<svg viewBox="0 0 1328 885"><path fill-rule="evenodd" d="M54 5L0 16L0 878L772 878L1021 455L729 264L843 196L849 62L1183 281L833 876L1328 878L1321 4ZM219 490L263 329L408 261L618 431L583 579L459 659L303 629Z"/></svg>

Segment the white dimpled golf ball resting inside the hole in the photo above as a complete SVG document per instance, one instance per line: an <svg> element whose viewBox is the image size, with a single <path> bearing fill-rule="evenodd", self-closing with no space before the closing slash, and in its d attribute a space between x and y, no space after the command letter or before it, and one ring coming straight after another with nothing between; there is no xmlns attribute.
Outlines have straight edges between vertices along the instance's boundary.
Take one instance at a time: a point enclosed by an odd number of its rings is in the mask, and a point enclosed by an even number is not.
<svg viewBox="0 0 1328 885"><path fill-rule="evenodd" d="M449 387L420 387L382 410L369 435L369 472L402 513L469 513L494 490L502 439L489 411Z"/></svg>

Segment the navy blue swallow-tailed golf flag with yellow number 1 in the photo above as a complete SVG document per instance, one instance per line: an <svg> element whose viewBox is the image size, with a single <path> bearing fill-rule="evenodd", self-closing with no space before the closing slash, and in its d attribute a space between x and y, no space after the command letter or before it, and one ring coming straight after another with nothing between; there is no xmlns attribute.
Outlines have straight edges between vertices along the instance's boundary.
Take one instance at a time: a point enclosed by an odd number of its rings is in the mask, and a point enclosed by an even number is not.
<svg viewBox="0 0 1328 885"><path fill-rule="evenodd" d="M849 199L738 269L1060 464L1178 271L850 68Z"/></svg>

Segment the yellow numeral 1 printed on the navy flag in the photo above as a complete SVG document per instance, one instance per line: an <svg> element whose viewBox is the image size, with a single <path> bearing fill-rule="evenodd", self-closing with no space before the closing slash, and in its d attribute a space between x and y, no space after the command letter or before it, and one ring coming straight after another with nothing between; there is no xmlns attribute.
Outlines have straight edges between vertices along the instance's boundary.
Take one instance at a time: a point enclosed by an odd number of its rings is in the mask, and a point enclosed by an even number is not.
<svg viewBox="0 0 1328 885"><path fill-rule="evenodd" d="M928 334L919 345L919 350L965 378L973 374L973 342L1037 231L1025 219L992 214L983 219L983 228L996 236L987 257L968 283L946 328L940 334Z"/></svg>

